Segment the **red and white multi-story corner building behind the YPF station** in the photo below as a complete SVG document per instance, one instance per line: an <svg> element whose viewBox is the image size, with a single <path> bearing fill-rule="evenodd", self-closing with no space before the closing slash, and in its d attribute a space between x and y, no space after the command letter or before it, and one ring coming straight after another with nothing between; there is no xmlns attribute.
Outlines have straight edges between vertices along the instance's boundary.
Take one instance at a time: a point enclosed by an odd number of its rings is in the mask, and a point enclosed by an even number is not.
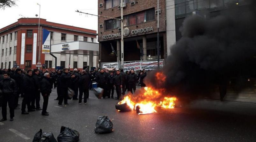
<svg viewBox="0 0 256 142"><path fill-rule="evenodd" d="M0 29L0 63L2 69L19 66L23 69L34 69L38 63L39 48L42 48L42 39L38 42L38 18L20 18L17 22ZM89 30L64 24L48 22L40 19L40 28L50 31L51 45L69 43L74 41L97 42L97 31ZM22 39L22 34L25 35ZM40 34L41 35L41 34ZM41 36L40 36L41 37ZM23 40L23 41L22 41ZM25 40L25 42L24 42ZM40 46L37 46L39 45ZM22 51L21 49L24 49ZM62 66L70 69L82 69L89 63L89 56L71 54L50 54L40 53L41 64L46 64L47 68ZM70 59L69 59L70 57ZM93 66L97 66L97 56L93 56Z"/></svg>

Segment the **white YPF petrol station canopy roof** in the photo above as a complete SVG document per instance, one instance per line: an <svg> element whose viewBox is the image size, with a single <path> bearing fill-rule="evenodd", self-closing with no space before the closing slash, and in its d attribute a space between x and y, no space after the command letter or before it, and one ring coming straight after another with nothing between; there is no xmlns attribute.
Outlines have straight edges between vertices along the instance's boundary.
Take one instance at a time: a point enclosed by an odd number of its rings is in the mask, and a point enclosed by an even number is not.
<svg viewBox="0 0 256 142"><path fill-rule="evenodd" d="M84 41L73 41L51 45L51 53L99 56L99 44Z"/></svg>

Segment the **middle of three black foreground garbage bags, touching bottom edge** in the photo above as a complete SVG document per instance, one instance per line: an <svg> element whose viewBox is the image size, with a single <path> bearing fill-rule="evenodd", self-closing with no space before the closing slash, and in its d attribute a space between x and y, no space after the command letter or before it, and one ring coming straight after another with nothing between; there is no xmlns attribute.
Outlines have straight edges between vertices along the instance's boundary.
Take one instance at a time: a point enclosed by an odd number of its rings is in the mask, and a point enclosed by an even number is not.
<svg viewBox="0 0 256 142"><path fill-rule="evenodd" d="M79 140L79 132L69 127L61 126L61 132L57 137L58 142L77 142Z"/></svg>

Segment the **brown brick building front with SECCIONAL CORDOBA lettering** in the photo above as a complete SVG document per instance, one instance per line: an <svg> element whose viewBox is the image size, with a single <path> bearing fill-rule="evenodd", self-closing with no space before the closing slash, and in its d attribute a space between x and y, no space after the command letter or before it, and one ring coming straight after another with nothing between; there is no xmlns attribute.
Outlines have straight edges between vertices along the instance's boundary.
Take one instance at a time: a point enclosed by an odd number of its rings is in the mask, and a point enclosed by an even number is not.
<svg viewBox="0 0 256 142"><path fill-rule="evenodd" d="M157 0L124 0L124 4L124 61L157 59ZM160 59L165 59L168 55L165 7L166 1L160 0ZM169 18L173 17L174 21L174 10L171 12L173 16ZM121 18L120 0L98 0L98 15ZM121 21L99 17L98 23L99 61L120 61ZM175 29L175 25L173 26Z"/></svg>

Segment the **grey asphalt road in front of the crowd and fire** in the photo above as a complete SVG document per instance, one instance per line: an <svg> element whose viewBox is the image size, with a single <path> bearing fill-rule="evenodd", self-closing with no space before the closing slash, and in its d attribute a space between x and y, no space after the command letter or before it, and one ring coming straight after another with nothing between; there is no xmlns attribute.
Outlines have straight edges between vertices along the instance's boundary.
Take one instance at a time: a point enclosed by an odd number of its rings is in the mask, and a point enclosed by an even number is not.
<svg viewBox="0 0 256 142"><path fill-rule="evenodd" d="M31 142L40 128L53 132L57 139L62 125L80 132L81 142L256 141L254 103L199 99L187 105L179 104L173 110L160 109L154 114L137 115L135 111L116 111L117 100L97 99L93 91L86 105L69 100L69 106L57 107L56 96L54 89L49 98L49 116L42 116L41 111L22 115L21 110L15 110L11 122L8 112L8 120L0 123L0 141ZM19 104L21 100L19 98ZM97 118L104 115L112 119L114 132L96 134Z"/></svg>

